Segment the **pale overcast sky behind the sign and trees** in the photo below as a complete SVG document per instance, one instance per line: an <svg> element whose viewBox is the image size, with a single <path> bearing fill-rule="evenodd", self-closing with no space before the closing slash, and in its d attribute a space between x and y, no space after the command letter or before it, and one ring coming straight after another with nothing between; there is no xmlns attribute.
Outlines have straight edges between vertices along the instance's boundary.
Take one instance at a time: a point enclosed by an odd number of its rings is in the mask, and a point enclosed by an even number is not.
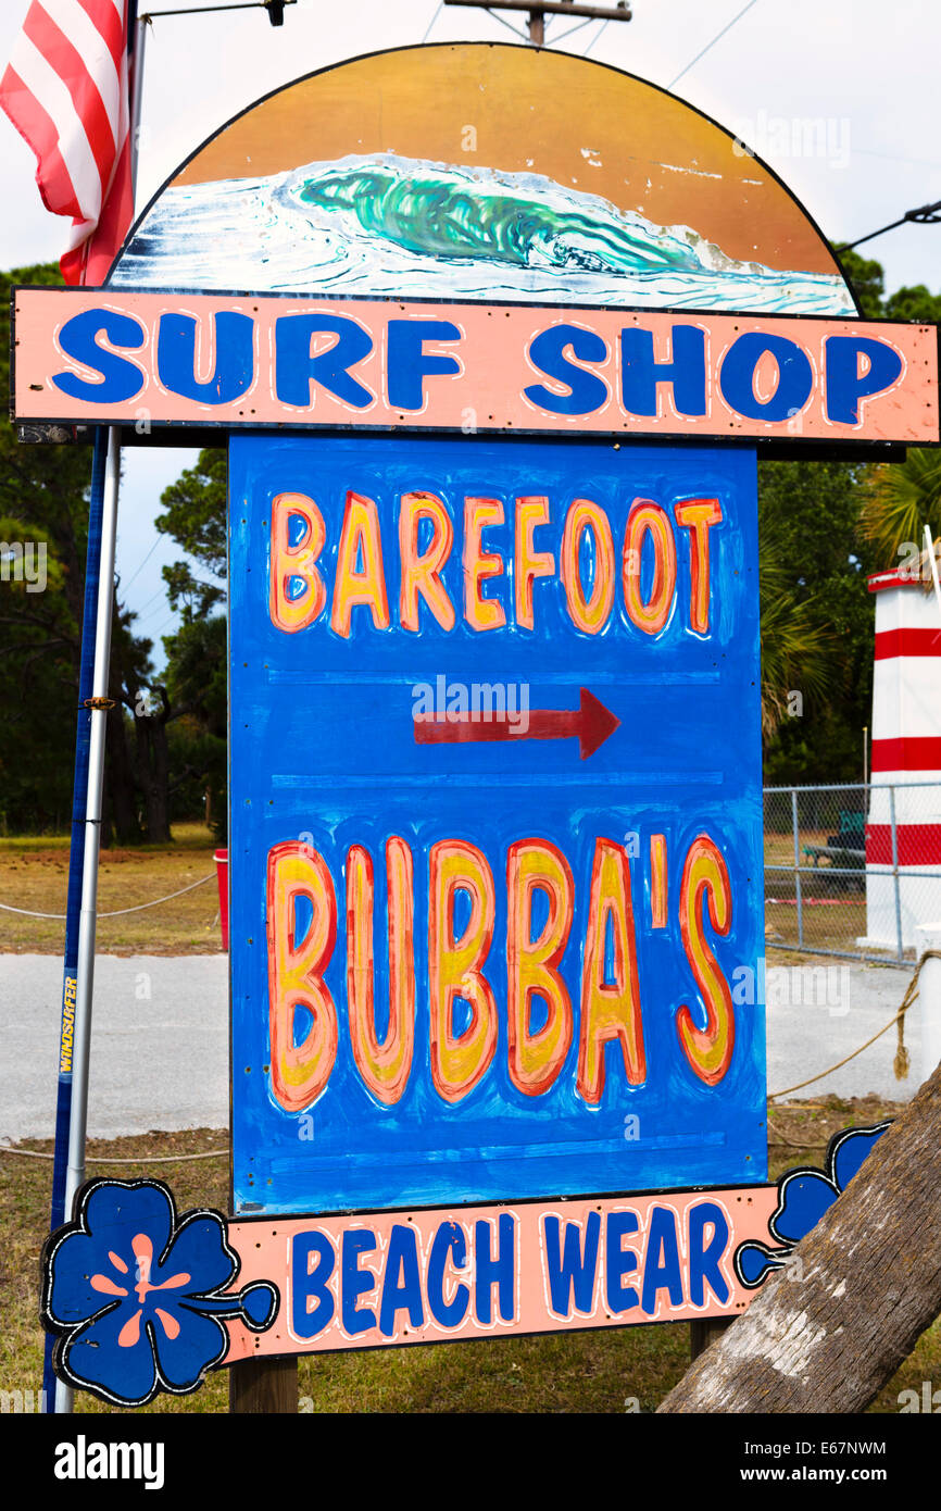
<svg viewBox="0 0 941 1511"><path fill-rule="evenodd" d="M154 0L153 11L184 3ZM207 9L202 0L190 5ZM852 240L914 205L941 199L936 0L752 0L681 79L745 0L631 0L631 6L628 24L591 23L562 48L675 86L749 141L832 240ZM29 0L3 0L0 63L27 9ZM148 9L147 0L140 9ZM497 14L515 26L526 21L511 11ZM572 26L565 18L550 24L548 44ZM316 68L367 50L412 45L426 35L432 42L514 41L486 12L438 0L298 0L285 11L284 27L272 27L261 11L156 17L147 45L139 205L252 100ZM805 118L826 122L820 156L791 150L793 122ZM625 133L630 139L630 122ZM32 153L0 115L5 267L54 261L63 248L68 222L44 210L33 177ZM890 290L914 283L941 289L941 225L902 227L864 251L882 261ZM157 639L172 629L160 567L178 552L157 538L153 520L160 491L195 455L125 453L118 571L122 597L140 613L139 633Z"/></svg>

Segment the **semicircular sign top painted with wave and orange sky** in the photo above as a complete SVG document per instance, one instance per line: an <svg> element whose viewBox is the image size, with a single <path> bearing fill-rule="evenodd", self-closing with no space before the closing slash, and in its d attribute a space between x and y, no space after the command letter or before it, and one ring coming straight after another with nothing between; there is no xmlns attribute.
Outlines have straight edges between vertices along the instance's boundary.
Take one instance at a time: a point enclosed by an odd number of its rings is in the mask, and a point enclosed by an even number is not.
<svg viewBox="0 0 941 1511"><path fill-rule="evenodd" d="M855 314L776 175L616 68L375 53L252 104L156 195L115 287Z"/></svg>

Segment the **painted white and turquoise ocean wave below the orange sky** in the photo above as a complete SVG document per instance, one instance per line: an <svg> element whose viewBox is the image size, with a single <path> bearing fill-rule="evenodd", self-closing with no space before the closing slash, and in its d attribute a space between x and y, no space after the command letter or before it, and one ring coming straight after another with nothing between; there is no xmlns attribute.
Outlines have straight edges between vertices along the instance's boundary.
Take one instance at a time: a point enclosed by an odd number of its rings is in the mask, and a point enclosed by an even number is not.
<svg viewBox="0 0 941 1511"><path fill-rule="evenodd" d="M168 189L112 284L852 314L843 281L728 257L539 174L384 154Z"/></svg>

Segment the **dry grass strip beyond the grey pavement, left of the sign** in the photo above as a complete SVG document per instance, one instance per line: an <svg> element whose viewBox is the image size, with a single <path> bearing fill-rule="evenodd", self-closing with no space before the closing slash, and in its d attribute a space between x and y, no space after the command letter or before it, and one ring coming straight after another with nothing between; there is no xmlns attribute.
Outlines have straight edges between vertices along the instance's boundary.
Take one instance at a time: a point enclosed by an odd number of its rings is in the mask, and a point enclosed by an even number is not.
<svg viewBox="0 0 941 1511"><path fill-rule="evenodd" d="M103 955L205 955L222 949L216 845L202 823L174 825L169 846L101 851L98 879L98 952ZM104 917L165 898L201 876L204 885L157 908ZM65 913L68 836L0 839L0 904L33 913ZM0 950L60 955L62 919L24 917L0 908Z"/></svg>

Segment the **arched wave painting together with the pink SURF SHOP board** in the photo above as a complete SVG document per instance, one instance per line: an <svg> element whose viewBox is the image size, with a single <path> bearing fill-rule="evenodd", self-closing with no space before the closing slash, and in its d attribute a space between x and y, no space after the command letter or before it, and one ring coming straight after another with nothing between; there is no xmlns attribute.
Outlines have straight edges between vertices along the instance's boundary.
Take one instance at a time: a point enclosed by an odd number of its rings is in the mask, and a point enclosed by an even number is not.
<svg viewBox="0 0 941 1511"><path fill-rule="evenodd" d="M938 444L933 326L862 320L708 116L529 47L287 85L174 174L106 287L15 305L27 425Z"/></svg>

